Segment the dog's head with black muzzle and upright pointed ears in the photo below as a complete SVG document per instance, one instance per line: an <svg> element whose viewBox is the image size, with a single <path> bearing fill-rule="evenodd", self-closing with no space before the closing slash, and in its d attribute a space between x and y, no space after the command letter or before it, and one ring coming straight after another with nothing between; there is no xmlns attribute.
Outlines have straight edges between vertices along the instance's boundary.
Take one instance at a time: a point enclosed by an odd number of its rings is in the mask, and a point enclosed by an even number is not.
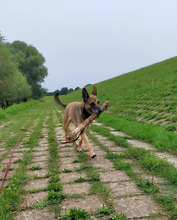
<svg viewBox="0 0 177 220"><path fill-rule="evenodd" d="M82 98L85 103L85 110L91 115L93 113L100 114L102 112L101 106L97 99L97 89L93 86L92 94L89 96L87 90L83 88Z"/></svg>

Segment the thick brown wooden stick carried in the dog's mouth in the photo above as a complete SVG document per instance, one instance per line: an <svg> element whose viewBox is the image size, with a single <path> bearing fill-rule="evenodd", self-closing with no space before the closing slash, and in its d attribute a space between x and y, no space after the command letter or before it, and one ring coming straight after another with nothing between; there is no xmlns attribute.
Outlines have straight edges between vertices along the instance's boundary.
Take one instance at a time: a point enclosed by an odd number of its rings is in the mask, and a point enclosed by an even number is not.
<svg viewBox="0 0 177 220"><path fill-rule="evenodd" d="M109 106L109 101L106 101L102 106L102 112L105 111ZM85 121L83 121L77 128L74 129L68 136L67 140L74 140L77 138L77 136L89 125L92 123L92 121L97 118L100 115L100 113L92 114L90 115Z"/></svg>

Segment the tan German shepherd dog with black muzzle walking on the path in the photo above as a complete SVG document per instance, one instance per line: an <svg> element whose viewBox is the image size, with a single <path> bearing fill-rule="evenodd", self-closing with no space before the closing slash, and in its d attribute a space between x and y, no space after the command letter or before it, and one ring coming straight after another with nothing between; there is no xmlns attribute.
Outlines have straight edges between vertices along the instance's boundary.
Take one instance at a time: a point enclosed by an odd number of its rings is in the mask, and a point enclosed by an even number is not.
<svg viewBox="0 0 177 220"><path fill-rule="evenodd" d="M63 114L63 127L64 127L66 141L67 141L67 130L70 122L73 122L74 125L77 127L91 114L102 112L101 106L99 105L99 101L97 99L97 89L95 86L93 86L93 91L90 96L87 90L83 88L82 102L71 102L68 105L64 105L63 103L61 103L58 95L59 93L56 92L54 94L54 99L59 106L65 109ZM87 129L84 129L84 131L81 134L81 139L77 143L77 150L79 152L82 151L82 142L84 141L91 158L94 158L96 154L94 153L93 148L88 141L88 138L86 136L86 130Z"/></svg>

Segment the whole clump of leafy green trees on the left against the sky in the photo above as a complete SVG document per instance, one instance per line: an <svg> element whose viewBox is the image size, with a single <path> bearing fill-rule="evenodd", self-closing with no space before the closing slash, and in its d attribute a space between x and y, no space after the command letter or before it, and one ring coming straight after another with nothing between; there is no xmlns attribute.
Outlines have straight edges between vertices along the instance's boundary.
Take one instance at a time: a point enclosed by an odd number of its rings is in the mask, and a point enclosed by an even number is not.
<svg viewBox="0 0 177 220"><path fill-rule="evenodd" d="M45 58L32 45L5 42L0 34L0 107L46 94L41 86L48 75L44 63Z"/></svg>

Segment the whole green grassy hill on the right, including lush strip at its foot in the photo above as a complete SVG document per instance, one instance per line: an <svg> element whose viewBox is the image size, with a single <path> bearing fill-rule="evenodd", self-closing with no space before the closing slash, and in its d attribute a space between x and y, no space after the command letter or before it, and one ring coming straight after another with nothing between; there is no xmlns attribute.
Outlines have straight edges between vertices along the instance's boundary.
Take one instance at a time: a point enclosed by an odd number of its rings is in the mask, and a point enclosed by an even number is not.
<svg viewBox="0 0 177 220"><path fill-rule="evenodd" d="M95 85L101 103L110 101L100 122L177 155L177 57ZM61 100L82 100L81 90Z"/></svg>

